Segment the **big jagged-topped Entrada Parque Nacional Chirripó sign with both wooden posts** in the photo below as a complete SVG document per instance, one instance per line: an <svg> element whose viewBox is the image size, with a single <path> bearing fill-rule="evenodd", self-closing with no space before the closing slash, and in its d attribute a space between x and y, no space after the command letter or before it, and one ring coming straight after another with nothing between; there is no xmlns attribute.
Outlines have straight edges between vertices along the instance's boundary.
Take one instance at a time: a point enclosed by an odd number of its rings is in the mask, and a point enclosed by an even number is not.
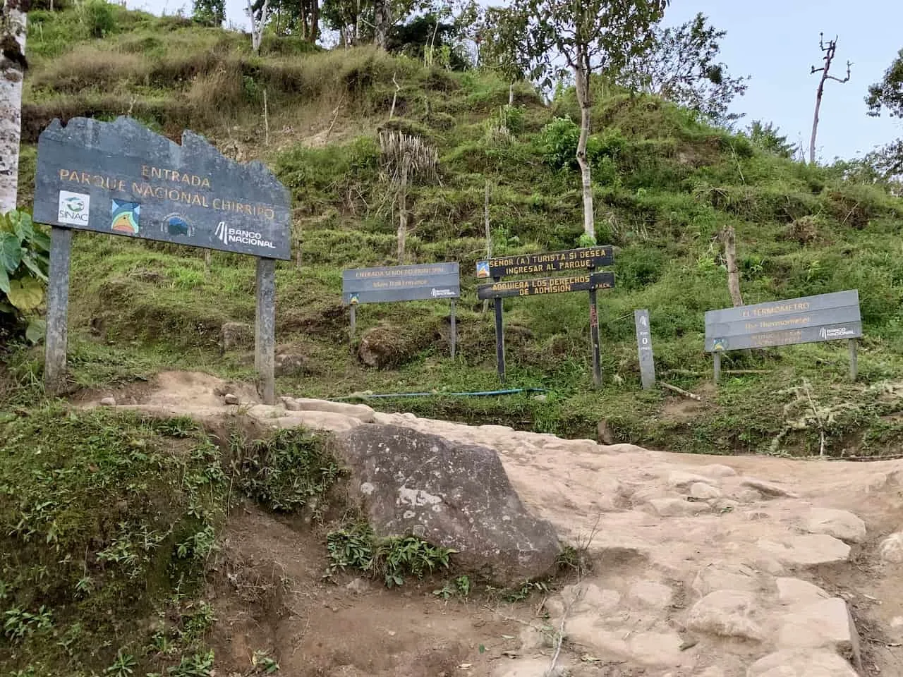
<svg viewBox="0 0 903 677"><path fill-rule="evenodd" d="M275 403L275 260L291 257L291 197L272 172L187 130L176 144L129 117L76 117L41 133L34 183L34 220L51 226L48 390L65 377L76 229L256 256L256 366L264 401Z"/></svg>

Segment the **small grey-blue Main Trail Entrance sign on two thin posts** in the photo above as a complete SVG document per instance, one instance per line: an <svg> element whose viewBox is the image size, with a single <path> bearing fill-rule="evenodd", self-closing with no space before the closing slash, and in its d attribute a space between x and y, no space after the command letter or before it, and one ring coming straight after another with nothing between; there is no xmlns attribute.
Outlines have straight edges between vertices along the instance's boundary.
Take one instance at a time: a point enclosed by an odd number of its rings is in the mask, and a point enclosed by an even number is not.
<svg viewBox="0 0 903 677"><path fill-rule="evenodd" d="M448 299L454 359L457 343L455 299L460 297L461 269L457 263L351 268L341 274L341 302L350 307L352 340L358 324L357 307L362 303Z"/></svg>

